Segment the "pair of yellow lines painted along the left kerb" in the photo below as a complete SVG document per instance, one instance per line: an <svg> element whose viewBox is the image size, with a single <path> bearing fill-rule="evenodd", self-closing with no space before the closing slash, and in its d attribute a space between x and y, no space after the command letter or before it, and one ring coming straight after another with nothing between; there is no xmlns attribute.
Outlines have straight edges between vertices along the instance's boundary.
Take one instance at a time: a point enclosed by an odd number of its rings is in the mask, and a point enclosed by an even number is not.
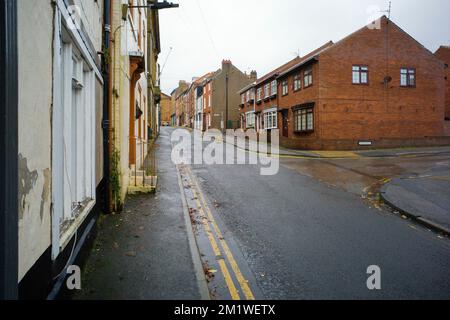
<svg viewBox="0 0 450 320"><path fill-rule="evenodd" d="M234 284L234 281L231 277L231 274L228 270L225 259L223 258L224 255L222 254L222 251L225 253L225 258L228 261L229 265L231 266L233 274L235 275L235 277L239 283L239 286L241 287L241 290L244 293L245 299L255 300L252 290L250 289L250 286L248 284L249 282L242 275L242 272L239 269L239 266L238 266L236 260L234 259L234 256L231 253L231 250L230 250L227 242L225 241L225 239L222 235L222 232L220 231L220 228L217 225L216 220L214 219L211 209L209 208L207 202L205 201L205 198L203 196L203 193L201 192L201 189L197 182L197 179L192 174L192 171L190 168L186 167L186 172L189 176L189 179L191 180L191 182L193 184L193 188L191 188L191 189L192 189L195 201L197 203L198 212L200 213L202 220L204 220L204 222L205 222L204 226L205 226L206 234L208 236L208 240L209 240L211 247L213 249L213 252L216 255L216 258L218 260L220 269L221 269L223 277L225 279L225 283L228 287L228 290L230 291L231 298L233 300L241 300L239 292L238 292L238 290ZM210 226L210 224L211 224L211 226ZM214 235L215 235L215 237L214 237ZM218 239L220 246L218 245L216 238ZM222 250L220 249L220 247L222 247Z"/></svg>

